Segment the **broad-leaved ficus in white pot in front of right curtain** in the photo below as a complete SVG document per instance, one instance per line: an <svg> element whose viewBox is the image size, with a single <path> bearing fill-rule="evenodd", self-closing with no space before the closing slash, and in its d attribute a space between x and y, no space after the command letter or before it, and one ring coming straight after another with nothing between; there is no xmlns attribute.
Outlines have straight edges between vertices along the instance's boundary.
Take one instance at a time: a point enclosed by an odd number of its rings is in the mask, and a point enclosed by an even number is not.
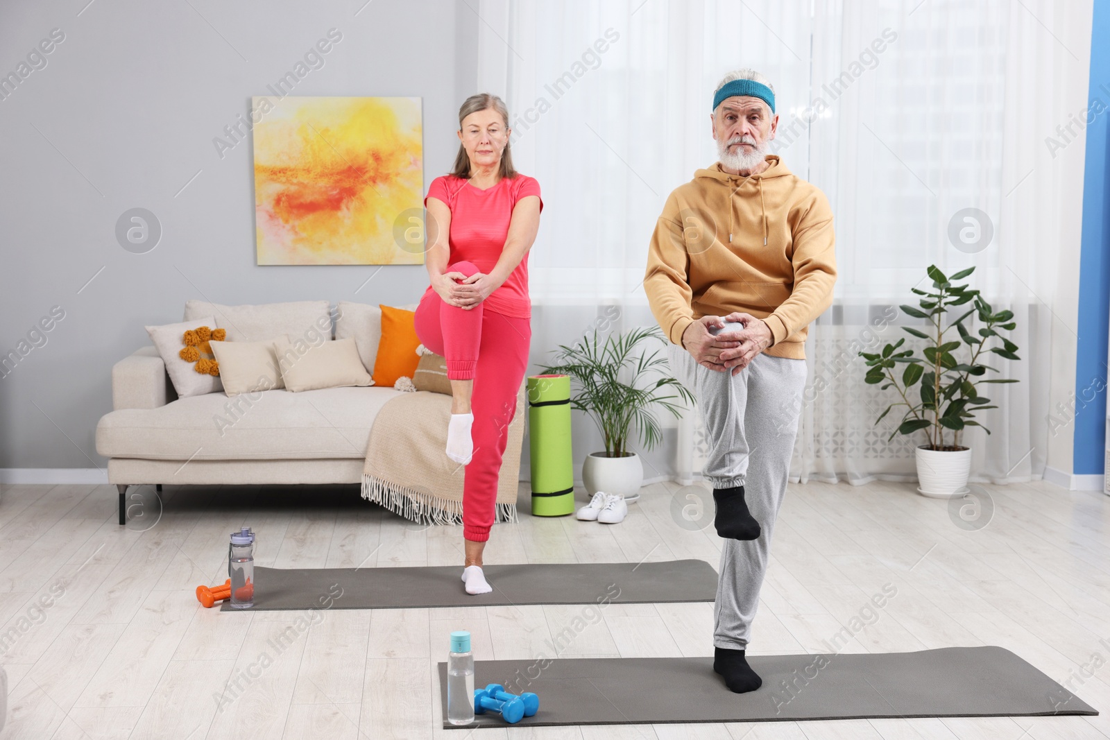
<svg viewBox="0 0 1110 740"><path fill-rule="evenodd" d="M901 401L890 404L876 424L881 422L896 406L905 406L895 435L914 435L924 432L925 445L917 448L918 493L937 498L960 496L966 491L971 473L971 449L960 444L963 429L968 426L990 429L975 420L976 412L997 408L990 398L977 389L979 383L1017 383L1010 378L988 377L998 369L983 364L985 352L991 352L1007 359L1020 359L1018 345L1001 332L1012 331L1017 324L1012 311L995 312L982 300L979 291L967 284L957 285L975 272L975 267L961 270L946 277L936 265L930 265L928 275L932 280L932 291L911 288L921 296L918 306L901 306L902 312L916 318L926 320L927 332L912 326L902 330L925 339L920 353L902 349L906 337L882 347L880 354L860 352L867 362L865 381L871 385L882 383L881 389L895 388ZM962 306L970 304L965 311ZM960 313L958 318L949 318L949 313ZM978 320L979 326L973 325ZM953 338L955 333L959 338ZM975 333L972 333L972 330ZM946 336L947 335L947 336ZM963 355L961 359L957 355ZM981 359L982 358L982 359Z"/></svg>

